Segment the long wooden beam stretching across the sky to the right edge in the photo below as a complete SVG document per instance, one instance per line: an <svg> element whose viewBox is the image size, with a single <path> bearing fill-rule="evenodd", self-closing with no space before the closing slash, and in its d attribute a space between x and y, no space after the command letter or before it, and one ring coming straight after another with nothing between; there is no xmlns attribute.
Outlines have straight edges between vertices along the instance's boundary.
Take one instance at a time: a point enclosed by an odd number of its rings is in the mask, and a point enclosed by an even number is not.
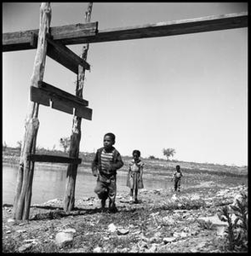
<svg viewBox="0 0 251 256"><path fill-rule="evenodd" d="M89 38L79 38L81 43L100 43L140 38L176 36L197 32L211 32L248 26L248 14L208 16L189 20L159 22L144 26L107 29ZM75 44L77 44L75 40Z"/></svg>

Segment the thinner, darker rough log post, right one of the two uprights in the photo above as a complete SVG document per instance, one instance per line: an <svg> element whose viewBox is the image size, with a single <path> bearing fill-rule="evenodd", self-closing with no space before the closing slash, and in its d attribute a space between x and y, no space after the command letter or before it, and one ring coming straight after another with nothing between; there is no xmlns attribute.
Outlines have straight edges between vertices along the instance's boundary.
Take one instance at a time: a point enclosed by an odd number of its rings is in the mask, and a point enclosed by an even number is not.
<svg viewBox="0 0 251 256"><path fill-rule="evenodd" d="M90 22L91 12L92 12L93 3L88 3L88 10L85 14L85 22ZM88 53L88 44L83 45L83 52L81 57L84 61L87 60ZM77 88L76 96L83 98L83 84L85 78L85 69L78 66L78 77L77 77ZM79 155L79 143L81 140L81 121L82 118L74 115L71 128L71 143L69 149L69 156L73 158L78 158ZM64 210L66 212L71 211L74 208L75 204L75 184L77 177L77 164L70 164L67 168L66 174L66 193L64 200Z"/></svg>

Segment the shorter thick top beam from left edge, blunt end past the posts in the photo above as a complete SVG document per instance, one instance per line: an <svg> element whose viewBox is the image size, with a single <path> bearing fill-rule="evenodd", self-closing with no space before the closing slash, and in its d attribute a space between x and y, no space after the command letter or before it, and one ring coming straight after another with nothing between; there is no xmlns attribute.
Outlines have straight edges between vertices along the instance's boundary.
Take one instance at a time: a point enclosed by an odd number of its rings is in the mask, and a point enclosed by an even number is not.
<svg viewBox="0 0 251 256"><path fill-rule="evenodd" d="M68 44L69 40L79 37L94 36L98 31L98 22L88 24L74 24L67 26L53 26L49 32L55 41L61 44ZM36 44L31 44L33 35L38 35L38 29L23 32L3 33L3 51L13 51L22 49L36 49Z"/></svg>

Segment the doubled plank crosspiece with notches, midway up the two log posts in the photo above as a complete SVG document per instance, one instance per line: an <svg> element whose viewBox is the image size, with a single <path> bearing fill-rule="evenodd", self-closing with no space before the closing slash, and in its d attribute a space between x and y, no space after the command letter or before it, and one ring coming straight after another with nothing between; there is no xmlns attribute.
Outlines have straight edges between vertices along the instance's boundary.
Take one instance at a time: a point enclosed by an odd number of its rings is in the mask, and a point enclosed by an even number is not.
<svg viewBox="0 0 251 256"><path fill-rule="evenodd" d="M60 90L53 85L38 82L38 88L31 86L31 102L37 102L44 106L49 106L52 102L51 108L63 111L65 113L73 113L73 108L76 109L75 114L83 119L92 119L93 110L87 108L88 101L80 97L71 95L70 93Z"/></svg>

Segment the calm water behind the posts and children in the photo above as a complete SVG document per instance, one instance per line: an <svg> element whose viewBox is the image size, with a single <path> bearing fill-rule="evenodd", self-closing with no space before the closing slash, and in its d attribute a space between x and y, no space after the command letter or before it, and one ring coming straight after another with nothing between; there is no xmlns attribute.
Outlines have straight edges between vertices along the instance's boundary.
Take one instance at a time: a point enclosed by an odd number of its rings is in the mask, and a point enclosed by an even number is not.
<svg viewBox="0 0 251 256"><path fill-rule="evenodd" d="M61 169L36 166L32 183L31 205L59 198L63 199L66 189L66 166ZM17 166L3 165L3 204L13 204L17 181ZM125 172L117 171L117 193L128 192ZM152 179L143 175L145 189L169 189L173 185L169 178ZM89 172L77 172L75 198L95 196L96 177Z"/></svg>

